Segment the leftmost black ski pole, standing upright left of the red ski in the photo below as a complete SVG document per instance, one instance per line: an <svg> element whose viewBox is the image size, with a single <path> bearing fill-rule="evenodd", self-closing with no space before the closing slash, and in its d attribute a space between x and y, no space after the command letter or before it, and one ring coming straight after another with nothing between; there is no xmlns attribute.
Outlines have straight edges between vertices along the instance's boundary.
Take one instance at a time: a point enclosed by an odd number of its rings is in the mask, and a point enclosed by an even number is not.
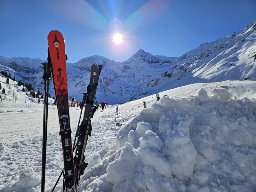
<svg viewBox="0 0 256 192"><path fill-rule="evenodd" d="M44 79L44 117L43 117L43 147L42 147L42 172L41 172L41 192L44 192L44 181L45 181L45 156L44 150L45 146L45 92L46 92L46 63L42 63L43 65L43 79Z"/></svg>

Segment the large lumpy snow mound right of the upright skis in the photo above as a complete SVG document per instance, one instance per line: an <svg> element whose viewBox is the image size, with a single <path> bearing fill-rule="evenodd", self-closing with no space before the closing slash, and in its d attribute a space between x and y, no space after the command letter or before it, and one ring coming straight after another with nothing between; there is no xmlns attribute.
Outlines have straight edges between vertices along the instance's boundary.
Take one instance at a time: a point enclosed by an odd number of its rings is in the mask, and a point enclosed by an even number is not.
<svg viewBox="0 0 256 192"><path fill-rule="evenodd" d="M256 103L224 89L164 97L122 127L116 146L93 155L87 191L256 189Z"/></svg>

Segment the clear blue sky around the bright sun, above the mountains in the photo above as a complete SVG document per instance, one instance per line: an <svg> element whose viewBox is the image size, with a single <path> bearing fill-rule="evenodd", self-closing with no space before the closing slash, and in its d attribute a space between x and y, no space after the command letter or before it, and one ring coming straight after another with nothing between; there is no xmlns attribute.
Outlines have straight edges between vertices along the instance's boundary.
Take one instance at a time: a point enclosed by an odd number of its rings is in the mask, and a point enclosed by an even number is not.
<svg viewBox="0 0 256 192"><path fill-rule="evenodd" d="M256 0L0 0L0 56L46 60L56 29L69 63L91 55L121 62L139 49L179 57L255 20Z"/></svg>

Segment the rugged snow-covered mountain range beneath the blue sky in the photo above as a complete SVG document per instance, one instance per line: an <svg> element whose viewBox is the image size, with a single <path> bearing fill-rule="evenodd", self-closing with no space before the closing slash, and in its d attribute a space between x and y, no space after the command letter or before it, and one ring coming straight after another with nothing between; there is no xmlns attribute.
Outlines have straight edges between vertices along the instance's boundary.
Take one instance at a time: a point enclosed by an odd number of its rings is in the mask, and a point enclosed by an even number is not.
<svg viewBox="0 0 256 192"><path fill-rule="evenodd" d="M78 101L82 100L92 63L103 65L97 100L113 104L192 83L256 80L255 31L256 21L232 35L203 43L178 58L153 56L139 50L121 63L97 55L74 64L68 63L69 99L76 97ZM37 90L43 87L41 62L45 60L0 57L0 70L35 84ZM53 95L52 83L51 87L50 94Z"/></svg>

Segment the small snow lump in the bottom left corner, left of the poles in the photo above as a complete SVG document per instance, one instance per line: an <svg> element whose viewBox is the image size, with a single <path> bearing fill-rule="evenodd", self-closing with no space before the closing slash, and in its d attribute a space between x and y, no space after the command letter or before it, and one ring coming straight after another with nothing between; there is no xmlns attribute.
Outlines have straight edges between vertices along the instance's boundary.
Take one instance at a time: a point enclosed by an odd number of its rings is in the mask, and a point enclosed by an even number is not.
<svg viewBox="0 0 256 192"><path fill-rule="evenodd" d="M33 188L40 184L41 177L31 167L20 170L19 179L15 183L8 183L1 189L3 192L11 191L35 191Z"/></svg>

